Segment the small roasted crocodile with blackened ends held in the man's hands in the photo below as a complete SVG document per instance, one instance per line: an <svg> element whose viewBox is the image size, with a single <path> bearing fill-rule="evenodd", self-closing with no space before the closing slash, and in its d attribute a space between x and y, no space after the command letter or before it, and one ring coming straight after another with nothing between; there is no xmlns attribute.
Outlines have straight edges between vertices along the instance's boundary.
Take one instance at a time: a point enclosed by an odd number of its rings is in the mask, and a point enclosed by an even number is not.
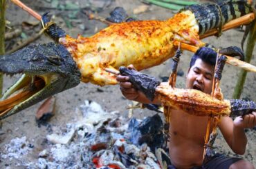
<svg viewBox="0 0 256 169"><path fill-rule="evenodd" d="M128 76L134 87L154 100L159 99L164 106L183 110L196 116L242 116L256 110L256 103L239 99L219 100L194 89L172 88L169 83L161 83L156 78L120 67L120 74Z"/></svg>

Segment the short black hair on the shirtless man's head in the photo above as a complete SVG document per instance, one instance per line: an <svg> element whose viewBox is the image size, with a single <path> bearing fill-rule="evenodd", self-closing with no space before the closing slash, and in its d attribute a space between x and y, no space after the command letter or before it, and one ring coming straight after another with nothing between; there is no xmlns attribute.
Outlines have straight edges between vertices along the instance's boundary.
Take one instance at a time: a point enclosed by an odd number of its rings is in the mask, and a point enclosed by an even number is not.
<svg viewBox="0 0 256 169"><path fill-rule="evenodd" d="M192 56L190 61L190 68L194 66L196 59L202 59L202 61L204 61L205 63L208 63L211 66L215 66L216 57L217 52L215 52L211 48L201 47L198 50L196 50L196 52Z"/></svg>

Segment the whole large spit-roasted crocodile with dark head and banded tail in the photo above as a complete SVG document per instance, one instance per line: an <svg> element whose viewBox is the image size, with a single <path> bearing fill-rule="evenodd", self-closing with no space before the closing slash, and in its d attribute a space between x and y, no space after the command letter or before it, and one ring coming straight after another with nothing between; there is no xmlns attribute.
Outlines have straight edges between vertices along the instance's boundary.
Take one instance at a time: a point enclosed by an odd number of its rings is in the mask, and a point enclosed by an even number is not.
<svg viewBox="0 0 256 169"><path fill-rule="evenodd" d="M0 72L24 73L4 93L0 101L0 119L77 86L78 79L100 86L116 84L116 77L105 68L118 69L133 64L137 70L143 70L156 66L173 57L175 42L204 46L199 35L221 28L224 23L249 12L253 12L253 8L245 1L194 5L167 21L118 23L92 37L79 36L77 39L68 36L44 15L42 22L47 34L60 44L30 46L0 56ZM10 97L23 88L26 93Z"/></svg>

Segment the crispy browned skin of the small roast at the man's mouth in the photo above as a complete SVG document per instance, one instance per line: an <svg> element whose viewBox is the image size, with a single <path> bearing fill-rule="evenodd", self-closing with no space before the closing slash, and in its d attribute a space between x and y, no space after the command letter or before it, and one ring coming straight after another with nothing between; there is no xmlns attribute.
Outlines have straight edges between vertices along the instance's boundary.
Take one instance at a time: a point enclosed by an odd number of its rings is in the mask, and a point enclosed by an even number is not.
<svg viewBox="0 0 256 169"><path fill-rule="evenodd" d="M163 105L183 110L190 115L219 116L230 115L231 112L229 100L221 101L199 90L172 88L165 83L156 88L156 97Z"/></svg>

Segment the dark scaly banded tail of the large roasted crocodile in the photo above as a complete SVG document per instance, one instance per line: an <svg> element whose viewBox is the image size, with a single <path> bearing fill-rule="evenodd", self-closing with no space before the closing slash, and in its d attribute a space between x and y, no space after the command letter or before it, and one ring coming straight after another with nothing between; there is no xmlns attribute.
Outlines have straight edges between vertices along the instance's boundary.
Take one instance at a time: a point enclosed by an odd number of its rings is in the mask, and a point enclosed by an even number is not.
<svg viewBox="0 0 256 169"><path fill-rule="evenodd" d="M208 30L219 28L232 19L242 17L253 12L253 8L247 1L223 1L221 3L192 5L183 10L190 10L194 13L199 24L199 35L205 34Z"/></svg>

